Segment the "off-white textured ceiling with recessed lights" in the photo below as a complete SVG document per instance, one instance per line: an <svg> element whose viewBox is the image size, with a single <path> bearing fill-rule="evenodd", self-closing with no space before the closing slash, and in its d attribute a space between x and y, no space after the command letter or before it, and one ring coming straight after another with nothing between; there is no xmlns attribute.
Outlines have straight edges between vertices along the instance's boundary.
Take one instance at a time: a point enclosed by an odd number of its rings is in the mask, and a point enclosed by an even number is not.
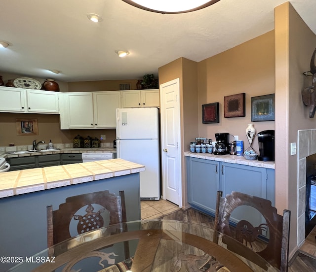
<svg viewBox="0 0 316 272"><path fill-rule="evenodd" d="M158 75L179 57L199 62L273 30L274 8L283 2L220 0L163 15L121 0L0 0L0 40L11 44L0 49L0 71L67 82ZM290 2L316 33L315 0ZM130 54L119 58L117 50Z"/></svg>

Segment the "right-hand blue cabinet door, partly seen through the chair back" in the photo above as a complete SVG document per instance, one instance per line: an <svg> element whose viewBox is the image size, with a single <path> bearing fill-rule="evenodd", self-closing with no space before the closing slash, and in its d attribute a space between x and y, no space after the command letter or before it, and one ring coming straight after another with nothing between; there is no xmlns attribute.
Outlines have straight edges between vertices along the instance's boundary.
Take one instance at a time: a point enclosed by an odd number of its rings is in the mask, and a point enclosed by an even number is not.
<svg viewBox="0 0 316 272"><path fill-rule="evenodd" d="M220 175L220 188L223 196L237 191L266 199L266 169L221 163ZM250 206L240 206L233 211L230 220L237 223L241 219L249 221L256 227L264 223L259 211Z"/></svg>

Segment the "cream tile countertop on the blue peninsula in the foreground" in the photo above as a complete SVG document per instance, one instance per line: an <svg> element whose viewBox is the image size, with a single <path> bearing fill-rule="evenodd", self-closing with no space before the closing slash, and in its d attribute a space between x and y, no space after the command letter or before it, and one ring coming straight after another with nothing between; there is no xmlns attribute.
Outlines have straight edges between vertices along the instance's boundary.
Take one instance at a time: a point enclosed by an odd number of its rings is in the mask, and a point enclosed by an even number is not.
<svg viewBox="0 0 316 272"><path fill-rule="evenodd" d="M145 166L112 159L0 173L0 198L145 171Z"/></svg>

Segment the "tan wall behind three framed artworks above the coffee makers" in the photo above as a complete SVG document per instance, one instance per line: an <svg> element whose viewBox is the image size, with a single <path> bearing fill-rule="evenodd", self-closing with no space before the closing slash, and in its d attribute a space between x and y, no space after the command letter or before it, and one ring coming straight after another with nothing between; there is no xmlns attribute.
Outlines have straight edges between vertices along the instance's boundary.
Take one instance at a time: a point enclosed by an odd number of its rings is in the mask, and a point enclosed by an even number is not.
<svg viewBox="0 0 316 272"><path fill-rule="evenodd" d="M274 31L198 63L198 136L230 133L249 147L245 134L251 122L251 97L275 93ZM246 94L246 116L224 118L224 96ZM220 122L202 124L202 104L219 102ZM257 133L274 130L274 121L253 122ZM231 138L232 140L233 138ZM257 137L252 147L259 152Z"/></svg>

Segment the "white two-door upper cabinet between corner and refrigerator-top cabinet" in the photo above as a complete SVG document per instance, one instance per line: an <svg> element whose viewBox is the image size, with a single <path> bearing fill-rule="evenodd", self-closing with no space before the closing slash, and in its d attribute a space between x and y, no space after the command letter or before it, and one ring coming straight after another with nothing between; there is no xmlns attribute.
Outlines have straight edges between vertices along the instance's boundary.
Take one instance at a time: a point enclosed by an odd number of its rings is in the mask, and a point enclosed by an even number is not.
<svg viewBox="0 0 316 272"><path fill-rule="evenodd" d="M120 91L61 93L60 100L61 129L116 128Z"/></svg>

